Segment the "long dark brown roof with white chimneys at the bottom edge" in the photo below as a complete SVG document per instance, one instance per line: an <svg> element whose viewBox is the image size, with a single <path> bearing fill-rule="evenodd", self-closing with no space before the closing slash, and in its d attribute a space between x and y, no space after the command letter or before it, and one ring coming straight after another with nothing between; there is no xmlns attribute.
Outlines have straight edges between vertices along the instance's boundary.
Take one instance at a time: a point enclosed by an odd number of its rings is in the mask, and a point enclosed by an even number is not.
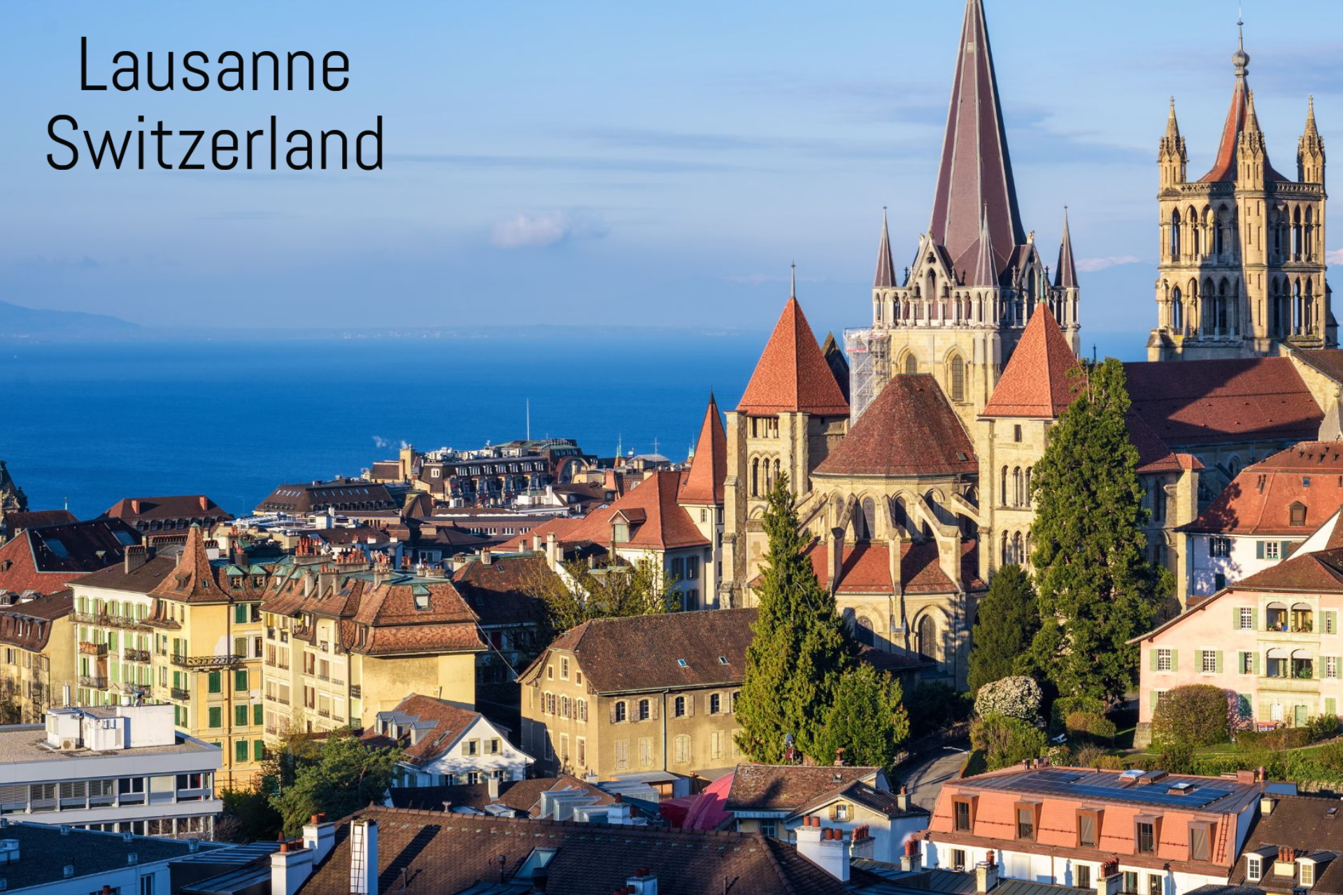
<svg viewBox="0 0 1343 895"><path fill-rule="evenodd" d="M479 882L512 879L536 848L553 848L548 892L591 895L624 886L647 868L658 891L732 895L808 892L838 895L843 886L791 845L759 833L701 833L649 827L606 827L528 819L369 808L342 820L336 847L302 887L305 895L349 892L349 820L377 821L379 892L396 892L402 868L432 891L457 892ZM502 856L502 863L500 857ZM415 876L411 878L414 886Z"/></svg>

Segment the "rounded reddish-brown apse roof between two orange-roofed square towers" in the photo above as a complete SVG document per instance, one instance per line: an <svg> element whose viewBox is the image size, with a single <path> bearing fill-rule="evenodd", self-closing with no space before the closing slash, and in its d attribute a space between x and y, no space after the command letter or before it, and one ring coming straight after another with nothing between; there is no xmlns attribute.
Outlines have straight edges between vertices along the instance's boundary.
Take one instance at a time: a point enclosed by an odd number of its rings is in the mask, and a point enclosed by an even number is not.
<svg viewBox="0 0 1343 895"><path fill-rule="evenodd" d="M979 462L937 380L893 376L814 475L959 475Z"/></svg>

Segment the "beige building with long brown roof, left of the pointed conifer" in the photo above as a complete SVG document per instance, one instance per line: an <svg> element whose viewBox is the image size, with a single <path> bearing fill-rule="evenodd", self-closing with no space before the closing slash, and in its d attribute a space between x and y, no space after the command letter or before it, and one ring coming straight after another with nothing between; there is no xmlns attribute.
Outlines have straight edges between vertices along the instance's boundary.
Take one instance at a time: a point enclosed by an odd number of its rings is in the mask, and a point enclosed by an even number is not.
<svg viewBox="0 0 1343 895"><path fill-rule="evenodd" d="M522 750L541 774L729 770L755 617L673 612L565 632L520 676Z"/></svg>

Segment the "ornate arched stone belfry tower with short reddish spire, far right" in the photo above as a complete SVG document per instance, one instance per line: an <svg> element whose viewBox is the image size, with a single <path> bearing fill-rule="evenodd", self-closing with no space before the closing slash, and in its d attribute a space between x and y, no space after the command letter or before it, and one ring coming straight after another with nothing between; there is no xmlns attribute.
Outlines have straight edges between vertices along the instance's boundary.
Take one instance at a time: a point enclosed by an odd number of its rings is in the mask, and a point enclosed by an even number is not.
<svg viewBox="0 0 1343 895"><path fill-rule="evenodd" d="M1307 107L1296 180L1275 170L1254 111L1245 42L1213 169L1190 182L1171 99L1158 150L1160 266L1151 361L1334 348L1324 280L1324 141Z"/></svg>

